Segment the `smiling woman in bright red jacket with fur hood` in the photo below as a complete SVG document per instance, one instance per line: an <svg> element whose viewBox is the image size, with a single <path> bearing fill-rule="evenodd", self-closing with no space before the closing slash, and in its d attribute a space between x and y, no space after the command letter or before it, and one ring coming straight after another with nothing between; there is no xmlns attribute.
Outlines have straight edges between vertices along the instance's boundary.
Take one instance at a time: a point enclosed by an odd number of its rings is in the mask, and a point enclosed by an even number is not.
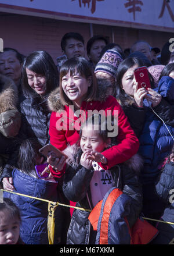
<svg viewBox="0 0 174 256"><path fill-rule="evenodd" d="M89 62L82 57L71 58L64 62L60 69L60 87L48 98L52 111L50 117L50 143L63 151L67 145L73 145L79 140L80 122L86 119L89 112L103 111L106 118L113 116L117 122L118 145L102 152L102 159L93 154L93 159L104 169L109 169L118 163L125 162L139 149L139 140L129 125L121 106L113 96L107 96L107 91L97 87L95 73ZM50 172L61 177L64 173L65 159L52 155L48 158Z"/></svg>

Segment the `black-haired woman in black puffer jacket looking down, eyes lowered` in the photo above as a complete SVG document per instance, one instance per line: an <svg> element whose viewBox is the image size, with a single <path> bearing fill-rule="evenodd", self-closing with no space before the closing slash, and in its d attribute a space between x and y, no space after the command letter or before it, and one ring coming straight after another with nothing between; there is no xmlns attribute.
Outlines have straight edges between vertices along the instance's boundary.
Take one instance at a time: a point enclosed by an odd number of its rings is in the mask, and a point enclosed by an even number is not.
<svg viewBox="0 0 174 256"><path fill-rule="evenodd" d="M24 61L21 81L26 99L20 104L22 121L18 137L22 140L33 137L44 146L49 142L51 115L46 102L48 95L59 86L59 75L52 57L45 51L28 55ZM10 157L1 176L3 187L8 190L14 189L10 165L16 166L16 155L15 152L13 157Z"/></svg>

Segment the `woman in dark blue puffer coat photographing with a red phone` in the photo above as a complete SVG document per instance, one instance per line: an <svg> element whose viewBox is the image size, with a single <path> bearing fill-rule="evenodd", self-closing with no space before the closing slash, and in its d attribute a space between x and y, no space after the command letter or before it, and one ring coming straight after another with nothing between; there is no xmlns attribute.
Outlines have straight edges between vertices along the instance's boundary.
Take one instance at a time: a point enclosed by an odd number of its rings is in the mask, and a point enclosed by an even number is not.
<svg viewBox="0 0 174 256"><path fill-rule="evenodd" d="M144 158L140 175L143 184L143 213L148 218L159 218L164 205L155 195L154 182L160 172L162 159L171 151L173 143L162 122L172 125L172 113L166 111L166 105L169 104L169 98L172 99L173 89L162 81L154 88L153 77L149 74L151 88L137 90L133 71L140 66L144 66L143 62L135 57L126 58L120 63L117 69L116 98L139 137L139 153ZM171 131L173 133L173 129Z"/></svg>

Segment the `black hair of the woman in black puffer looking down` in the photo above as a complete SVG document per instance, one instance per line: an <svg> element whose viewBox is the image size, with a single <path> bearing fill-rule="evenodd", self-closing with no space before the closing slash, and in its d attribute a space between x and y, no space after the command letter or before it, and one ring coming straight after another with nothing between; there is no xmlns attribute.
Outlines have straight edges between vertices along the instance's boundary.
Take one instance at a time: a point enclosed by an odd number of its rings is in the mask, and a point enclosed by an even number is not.
<svg viewBox="0 0 174 256"><path fill-rule="evenodd" d="M27 56L22 71L22 88L26 98L36 98L38 94L29 86L27 69L46 77L46 94L59 86L59 72L52 57L45 51L35 51Z"/></svg>

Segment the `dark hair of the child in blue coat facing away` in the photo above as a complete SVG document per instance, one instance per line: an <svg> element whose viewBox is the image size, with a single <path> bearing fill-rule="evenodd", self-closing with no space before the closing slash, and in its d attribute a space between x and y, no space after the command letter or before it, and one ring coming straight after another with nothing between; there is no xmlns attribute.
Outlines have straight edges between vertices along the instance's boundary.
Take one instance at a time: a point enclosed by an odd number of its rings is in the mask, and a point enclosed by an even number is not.
<svg viewBox="0 0 174 256"><path fill-rule="evenodd" d="M42 157L39 153L39 149L42 147L38 140L35 138L28 138L24 140L19 149L18 166L19 169L30 175L32 170L35 170L37 160Z"/></svg>

